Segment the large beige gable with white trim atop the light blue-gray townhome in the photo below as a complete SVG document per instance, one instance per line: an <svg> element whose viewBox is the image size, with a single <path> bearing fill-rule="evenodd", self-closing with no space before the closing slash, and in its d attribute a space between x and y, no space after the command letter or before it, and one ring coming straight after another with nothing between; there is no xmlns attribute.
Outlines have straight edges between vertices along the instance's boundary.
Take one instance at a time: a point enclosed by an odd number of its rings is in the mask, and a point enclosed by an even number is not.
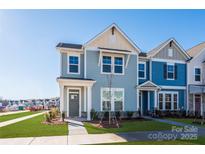
<svg viewBox="0 0 205 154"><path fill-rule="evenodd" d="M116 25L112 24L85 45L87 48L112 48L140 52L136 44Z"/></svg>

